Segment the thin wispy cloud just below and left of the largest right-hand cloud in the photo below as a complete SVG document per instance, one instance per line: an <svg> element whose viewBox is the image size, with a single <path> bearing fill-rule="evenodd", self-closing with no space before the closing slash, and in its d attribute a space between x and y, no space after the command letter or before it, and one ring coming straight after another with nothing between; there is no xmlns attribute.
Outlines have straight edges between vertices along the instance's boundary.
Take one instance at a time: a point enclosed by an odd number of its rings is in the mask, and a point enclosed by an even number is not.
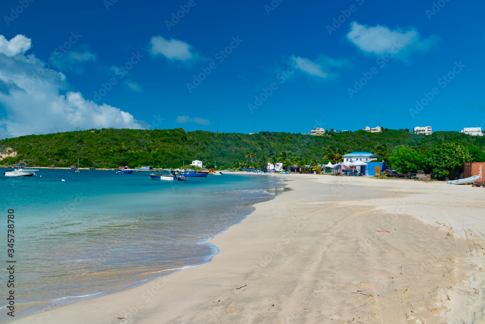
<svg viewBox="0 0 485 324"><path fill-rule="evenodd" d="M335 70L348 65L344 59L331 59L327 56L320 56L315 61L301 56L291 56L290 60L292 66L297 66L306 74L322 79L336 77L338 73Z"/></svg>

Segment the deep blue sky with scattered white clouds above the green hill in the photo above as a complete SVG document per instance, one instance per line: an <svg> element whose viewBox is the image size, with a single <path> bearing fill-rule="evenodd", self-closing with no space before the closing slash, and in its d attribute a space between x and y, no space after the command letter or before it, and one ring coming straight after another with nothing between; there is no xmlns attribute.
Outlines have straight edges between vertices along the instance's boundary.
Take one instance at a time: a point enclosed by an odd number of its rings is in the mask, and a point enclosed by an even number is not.
<svg viewBox="0 0 485 324"><path fill-rule="evenodd" d="M485 3L3 0L0 139L484 128Z"/></svg>

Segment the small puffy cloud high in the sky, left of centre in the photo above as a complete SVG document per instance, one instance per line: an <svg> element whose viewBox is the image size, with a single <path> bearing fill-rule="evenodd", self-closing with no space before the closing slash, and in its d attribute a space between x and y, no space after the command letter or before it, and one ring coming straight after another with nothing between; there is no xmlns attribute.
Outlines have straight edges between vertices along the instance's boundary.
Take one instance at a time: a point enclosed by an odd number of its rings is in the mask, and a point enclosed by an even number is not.
<svg viewBox="0 0 485 324"><path fill-rule="evenodd" d="M154 56L163 55L168 60L191 61L197 58L194 49L188 43L162 36L153 36L150 40L150 51Z"/></svg>

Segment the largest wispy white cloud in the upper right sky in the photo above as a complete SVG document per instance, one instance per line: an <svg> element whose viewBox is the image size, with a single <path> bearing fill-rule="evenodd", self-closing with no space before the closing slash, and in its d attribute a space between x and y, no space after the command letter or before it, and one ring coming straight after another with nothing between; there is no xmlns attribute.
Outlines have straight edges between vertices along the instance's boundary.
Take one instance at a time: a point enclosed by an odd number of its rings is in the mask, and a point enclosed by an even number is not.
<svg viewBox="0 0 485 324"><path fill-rule="evenodd" d="M422 38L414 28L404 31L400 28L390 30L385 26L365 26L356 21L350 24L347 38L359 49L366 53L382 55L389 51L405 57L412 52L426 52L432 49L438 37L431 35Z"/></svg>

